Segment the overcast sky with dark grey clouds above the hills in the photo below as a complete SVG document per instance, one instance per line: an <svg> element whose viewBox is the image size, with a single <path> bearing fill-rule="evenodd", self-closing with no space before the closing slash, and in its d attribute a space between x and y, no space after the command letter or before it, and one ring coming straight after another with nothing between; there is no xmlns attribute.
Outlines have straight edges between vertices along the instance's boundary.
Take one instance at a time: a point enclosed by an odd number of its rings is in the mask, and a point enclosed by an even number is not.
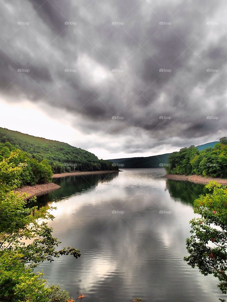
<svg viewBox="0 0 227 302"><path fill-rule="evenodd" d="M103 159L227 136L226 1L2 0L0 9L1 127Z"/></svg>

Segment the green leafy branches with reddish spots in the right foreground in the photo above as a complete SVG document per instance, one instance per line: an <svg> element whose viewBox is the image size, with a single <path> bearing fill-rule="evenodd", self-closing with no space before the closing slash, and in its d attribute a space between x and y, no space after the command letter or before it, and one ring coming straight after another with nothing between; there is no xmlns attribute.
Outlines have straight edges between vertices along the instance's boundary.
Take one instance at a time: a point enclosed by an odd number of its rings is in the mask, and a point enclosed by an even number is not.
<svg viewBox="0 0 227 302"><path fill-rule="evenodd" d="M186 239L189 256L184 260L203 275L212 274L220 281L218 287L227 292L227 186L210 182L211 192L194 201L194 212L201 218L190 221L192 235Z"/></svg>

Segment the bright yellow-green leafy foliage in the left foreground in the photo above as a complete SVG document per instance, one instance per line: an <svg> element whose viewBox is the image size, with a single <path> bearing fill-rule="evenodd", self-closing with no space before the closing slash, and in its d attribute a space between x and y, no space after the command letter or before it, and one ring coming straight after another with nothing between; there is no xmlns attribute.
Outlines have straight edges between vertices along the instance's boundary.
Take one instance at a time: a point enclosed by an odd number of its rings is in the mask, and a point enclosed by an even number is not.
<svg viewBox="0 0 227 302"><path fill-rule="evenodd" d="M53 207L28 208L28 195L13 191L20 185L27 163L25 159L15 164L19 158L20 152L11 152L0 161L0 301L67 302L67 292L46 286L43 274L35 274L33 269L60 255L78 258L80 252L70 246L56 250L60 242L52 237L46 221L54 219L50 214Z"/></svg>

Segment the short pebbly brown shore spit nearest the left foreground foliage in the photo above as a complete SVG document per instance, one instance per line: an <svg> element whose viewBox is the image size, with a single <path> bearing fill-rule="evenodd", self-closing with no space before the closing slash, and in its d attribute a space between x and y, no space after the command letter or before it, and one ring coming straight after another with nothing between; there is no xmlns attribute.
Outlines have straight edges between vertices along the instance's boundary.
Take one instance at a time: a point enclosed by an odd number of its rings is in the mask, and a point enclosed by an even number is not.
<svg viewBox="0 0 227 302"><path fill-rule="evenodd" d="M41 195L53 192L59 188L60 188L59 185L56 185L53 182L48 182L48 183L40 184L40 185L24 186L21 188L17 188L14 191L29 194L29 197L25 198L25 200L28 200L34 196L41 196Z"/></svg>

